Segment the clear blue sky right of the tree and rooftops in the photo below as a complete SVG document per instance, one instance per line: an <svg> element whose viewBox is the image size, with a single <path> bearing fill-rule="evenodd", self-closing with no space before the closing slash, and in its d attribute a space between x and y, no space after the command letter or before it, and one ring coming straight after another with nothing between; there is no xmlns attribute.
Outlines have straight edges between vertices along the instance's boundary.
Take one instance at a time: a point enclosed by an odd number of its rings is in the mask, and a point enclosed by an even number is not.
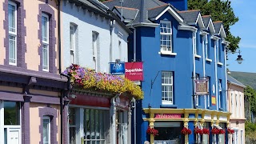
<svg viewBox="0 0 256 144"><path fill-rule="evenodd" d="M238 54L228 54L227 66L231 71L256 73L256 0L230 0L234 14L239 21L230 27L231 33L241 38L239 47L242 51L242 64L235 59Z"/></svg>

